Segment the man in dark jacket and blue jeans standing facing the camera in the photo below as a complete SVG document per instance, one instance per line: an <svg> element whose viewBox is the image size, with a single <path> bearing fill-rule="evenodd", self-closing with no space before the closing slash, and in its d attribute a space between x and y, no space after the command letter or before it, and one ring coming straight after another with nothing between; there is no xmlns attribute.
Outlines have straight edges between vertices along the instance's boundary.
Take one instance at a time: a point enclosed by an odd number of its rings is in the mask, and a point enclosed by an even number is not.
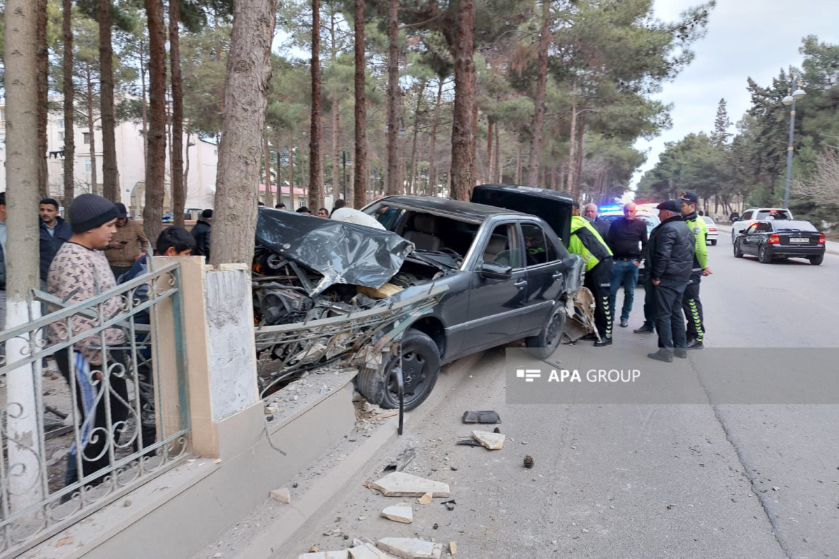
<svg viewBox="0 0 839 559"><path fill-rule="evenodd" d="M621 328L629 325L629 313L635 298L635 286L638 285L638 267L644 260L642 256L647 248L647 224L636 217L636 206L629 202L623 206L623 217L612 222L606 236L606 244L612 249L615 261L612 267L612 288L609 292L609 308L612 309L612 322L617 312L615 304L618 289L623 285L623 307L621 308Z"/></svg>

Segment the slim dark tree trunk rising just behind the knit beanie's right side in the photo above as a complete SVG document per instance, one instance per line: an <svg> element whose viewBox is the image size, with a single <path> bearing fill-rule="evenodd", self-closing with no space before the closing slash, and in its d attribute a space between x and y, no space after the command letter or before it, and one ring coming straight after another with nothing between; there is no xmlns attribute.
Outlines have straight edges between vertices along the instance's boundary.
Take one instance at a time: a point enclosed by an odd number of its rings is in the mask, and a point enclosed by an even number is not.
<svg viewBox="0 0 839 559"><path fill-rule="evenodd" d="M99 111L102 115L102 195L112 202L118 202L120 193L115 135L117 122L113 106L111 2L112 0L99 0Z"/></svg>

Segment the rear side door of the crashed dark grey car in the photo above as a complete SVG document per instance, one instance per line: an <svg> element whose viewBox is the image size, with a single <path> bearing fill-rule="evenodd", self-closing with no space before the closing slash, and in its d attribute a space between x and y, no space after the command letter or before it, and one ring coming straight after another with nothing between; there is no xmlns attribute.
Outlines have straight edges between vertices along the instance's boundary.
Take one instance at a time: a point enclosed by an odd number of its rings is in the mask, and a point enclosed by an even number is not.
<svg viewBox="0 0 839 559"><path fill-rule="evenodd" d="M542 329L550 317L562 292L565 263L560 259L560 249L545 235L541 225L523 221L520 227L527 272L527 312L522 314L519 329L525 333Z"/></svg>

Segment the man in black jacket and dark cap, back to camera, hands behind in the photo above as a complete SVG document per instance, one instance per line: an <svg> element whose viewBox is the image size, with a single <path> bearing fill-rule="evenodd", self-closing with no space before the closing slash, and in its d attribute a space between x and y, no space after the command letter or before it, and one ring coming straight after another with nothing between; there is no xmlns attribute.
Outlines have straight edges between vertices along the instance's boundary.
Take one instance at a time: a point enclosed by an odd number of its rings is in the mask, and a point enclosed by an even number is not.
<svg viewBox="0 0 839 559"><path fill-rule="evenodd" d="M649 276L653 284L655 328L659 332L659 350L647 354L650 359L673 361L687 357L685 320L681 298L690 280L695 240L681 217L678 200L658 205L661 224L649 238Z"/></svg>

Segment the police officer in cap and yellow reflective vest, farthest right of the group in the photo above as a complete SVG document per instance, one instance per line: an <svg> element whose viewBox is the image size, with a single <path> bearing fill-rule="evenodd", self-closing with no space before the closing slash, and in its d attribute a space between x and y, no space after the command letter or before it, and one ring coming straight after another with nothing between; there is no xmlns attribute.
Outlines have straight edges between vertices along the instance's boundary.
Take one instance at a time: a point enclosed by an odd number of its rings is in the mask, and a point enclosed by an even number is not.
<svg viewBox="0 0 839 559"><path fill-rule="evenodd" d="M705 337L705 323L702 320L702 303L699 300L699 282L702 276L710 276L708 267L708 246L706 237L708 225L696 213L698 199L692 192L683 192L679 199L682 207L682 218L696 237L696 250L693 256L693 269L690 272L690 282L682 297L682 310L687 319L687 349L702 349L702 339Z"/></svg>

